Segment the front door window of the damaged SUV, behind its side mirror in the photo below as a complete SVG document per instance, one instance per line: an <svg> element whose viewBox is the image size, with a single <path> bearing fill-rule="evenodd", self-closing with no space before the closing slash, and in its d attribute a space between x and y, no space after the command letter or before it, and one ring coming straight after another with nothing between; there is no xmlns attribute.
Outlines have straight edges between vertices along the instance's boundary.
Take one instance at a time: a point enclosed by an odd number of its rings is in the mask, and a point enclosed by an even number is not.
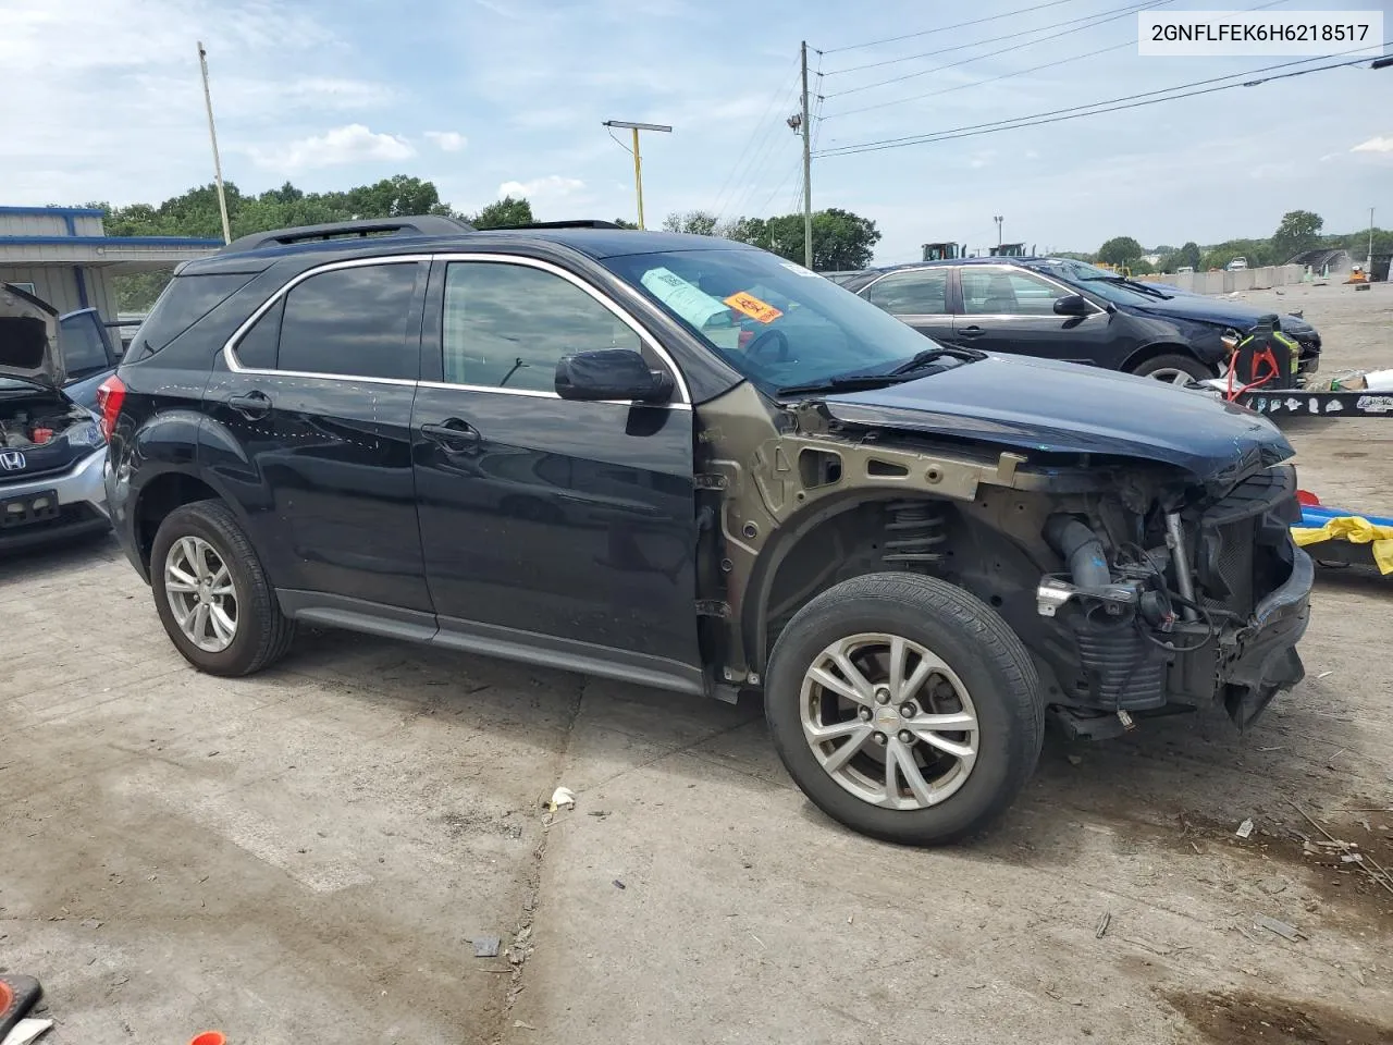
<svg viewBox="0 0 1393 1045"><path fill-rule="evenodd" d="M444 279L444 380L552 392L556 364L598 348L641 351L638 334L584 290L550 272L454 262Z"/></svg>

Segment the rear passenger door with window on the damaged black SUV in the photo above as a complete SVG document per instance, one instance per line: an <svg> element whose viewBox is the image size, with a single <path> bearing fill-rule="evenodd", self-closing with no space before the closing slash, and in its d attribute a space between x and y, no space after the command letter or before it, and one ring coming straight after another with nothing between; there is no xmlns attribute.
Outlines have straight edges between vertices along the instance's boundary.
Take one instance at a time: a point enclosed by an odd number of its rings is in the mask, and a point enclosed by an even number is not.
<svg viewBox="0 0 1393 1045"><path fill-rule="evenodd" d="M199 454L280 589L430 612L411 471L428 272L390 259L322 269L212 375Z"/></svg>

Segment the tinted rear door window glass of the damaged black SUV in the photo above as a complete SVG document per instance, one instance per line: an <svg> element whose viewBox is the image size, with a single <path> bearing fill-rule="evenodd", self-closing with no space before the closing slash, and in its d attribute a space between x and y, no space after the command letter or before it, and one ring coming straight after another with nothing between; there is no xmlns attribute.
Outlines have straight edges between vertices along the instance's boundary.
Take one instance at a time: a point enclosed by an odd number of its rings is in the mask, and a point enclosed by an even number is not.
<svg viewBox="0 0 1393 1045"><path fill-rule="evenodd" d="M407 337L419 268L398 262L332 269L293 287L280 322L277 369L419 376L417 340Z"/></svg>

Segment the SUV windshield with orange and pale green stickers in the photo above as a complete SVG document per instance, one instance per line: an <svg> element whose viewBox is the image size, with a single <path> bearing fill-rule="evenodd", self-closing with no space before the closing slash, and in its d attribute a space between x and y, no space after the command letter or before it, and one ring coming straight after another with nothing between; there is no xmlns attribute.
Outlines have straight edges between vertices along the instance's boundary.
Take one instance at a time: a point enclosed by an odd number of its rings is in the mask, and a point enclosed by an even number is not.
<svg viewBox="0 0 1393 1045"><path fill-rule="evenodd" d="M605 265L769 394L892 369L935 347L864 298L765 251L635 254Z"/></svg>

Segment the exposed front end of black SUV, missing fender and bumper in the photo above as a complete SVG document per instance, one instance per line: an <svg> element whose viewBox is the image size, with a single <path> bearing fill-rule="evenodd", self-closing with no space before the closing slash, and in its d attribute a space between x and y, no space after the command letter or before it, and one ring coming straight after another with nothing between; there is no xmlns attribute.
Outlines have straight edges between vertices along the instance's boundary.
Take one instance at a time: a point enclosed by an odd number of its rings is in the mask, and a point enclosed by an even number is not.
<svg viewBox="0 0 1393 1045"><path fill-rule="evenodd" d="M1201 475L847 424L820 404L752 443L738 431L751 412L708 404L698 436L722 520L706 536L719 571L705 571L699 596L738 621L708 630L727 680L758 680L814 595L883 570L940 577L995 609L1071 736L1204 704L1245 726L1304 674L1294 647L1314 568L1289 531L1300 518L1289 451L1254 443Z"/></svg>

